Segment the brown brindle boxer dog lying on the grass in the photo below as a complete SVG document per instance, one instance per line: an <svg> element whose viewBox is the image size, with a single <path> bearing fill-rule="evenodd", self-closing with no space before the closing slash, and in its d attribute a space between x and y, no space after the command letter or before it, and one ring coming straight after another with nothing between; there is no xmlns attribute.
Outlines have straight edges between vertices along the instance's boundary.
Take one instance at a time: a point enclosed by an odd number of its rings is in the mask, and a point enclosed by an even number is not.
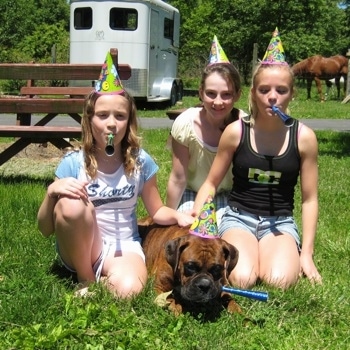
<svg viewBox="0 0 350 350"><path fill-rule="evenodd" d="M154 224L150 218L138 224L155 292L168 292L166 302L175 315L189 312L215 318L224 308L241 312L232 296L221 291L237 264L234 246L221 238L189 234L188 227Z"/></svg>

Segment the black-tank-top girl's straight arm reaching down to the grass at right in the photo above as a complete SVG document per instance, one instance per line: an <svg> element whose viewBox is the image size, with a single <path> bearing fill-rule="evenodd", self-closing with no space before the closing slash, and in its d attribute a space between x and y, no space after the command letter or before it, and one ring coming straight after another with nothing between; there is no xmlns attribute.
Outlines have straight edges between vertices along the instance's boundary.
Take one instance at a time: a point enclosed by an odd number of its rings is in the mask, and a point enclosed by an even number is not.
<svg viewBox="0 0 350 350"><path fill-rule="evenodd" d="M313 261L318 220L318 145L315 133L303 125L298 142L301 156L300 181L302 194L302 272L311 280L322 278Z"/></svg>

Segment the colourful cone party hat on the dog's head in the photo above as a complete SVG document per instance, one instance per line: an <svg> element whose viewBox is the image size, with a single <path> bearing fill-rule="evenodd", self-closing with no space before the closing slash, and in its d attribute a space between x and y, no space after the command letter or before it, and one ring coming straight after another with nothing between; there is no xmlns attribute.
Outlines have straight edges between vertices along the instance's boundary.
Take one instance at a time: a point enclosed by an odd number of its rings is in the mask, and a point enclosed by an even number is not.
<svg viewBox="0 0 350 350"><path fill-rule="evenodd" d="M213 203L213 197L211 195L208 196L198 218L190 227L189 232L203 238L219 237L218 226L216 224L215 204Z"/></svg>

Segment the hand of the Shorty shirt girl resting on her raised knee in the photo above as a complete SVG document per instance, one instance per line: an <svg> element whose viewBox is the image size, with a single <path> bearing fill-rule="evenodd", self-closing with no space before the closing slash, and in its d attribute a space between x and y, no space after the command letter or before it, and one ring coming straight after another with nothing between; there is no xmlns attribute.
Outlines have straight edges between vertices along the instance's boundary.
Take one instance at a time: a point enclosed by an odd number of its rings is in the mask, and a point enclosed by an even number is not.
<svg viewBox="0 0 350 350"><path fill-rule="evenodd" d="M73 177L56 179L47 188L47 194L50 198L68 197L73 199L88 199L86 185L88 181L79 181Z"/></svg>

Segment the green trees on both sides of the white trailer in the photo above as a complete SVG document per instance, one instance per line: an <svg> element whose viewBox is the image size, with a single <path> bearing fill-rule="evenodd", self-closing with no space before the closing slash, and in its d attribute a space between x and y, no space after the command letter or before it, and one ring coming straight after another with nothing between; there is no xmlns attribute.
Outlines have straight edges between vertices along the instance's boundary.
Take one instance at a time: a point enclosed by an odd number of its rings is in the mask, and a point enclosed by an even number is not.
<svg viewBox="0 0 350 350"><path fill-rule="evenodd" d="M350 48L350 1L169 0L181 14L179 72L199 79L217 35L228 58L248 81L254 44L262 58L277 26L289 63ZM66 0L0 0L0 62L68 62Z"/></svg>

